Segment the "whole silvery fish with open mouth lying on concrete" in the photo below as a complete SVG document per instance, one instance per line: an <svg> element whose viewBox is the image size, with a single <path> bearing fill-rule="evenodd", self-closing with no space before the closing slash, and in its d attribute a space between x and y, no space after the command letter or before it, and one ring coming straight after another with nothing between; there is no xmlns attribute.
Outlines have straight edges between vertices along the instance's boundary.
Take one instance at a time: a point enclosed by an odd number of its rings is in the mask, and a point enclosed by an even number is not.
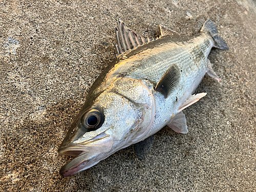
<svg viewBox="0 0 256 192"><path fill-rule="evenodd" d="M144 38L120 20L116 59L92 84L86 101L58 148L74 156L60 168L71 176L127 146L143 159L164 126L188 133L182 110L204 97L193 94L205 74L220 81L207 58L212 48L228 49L212 20L193 36L160 25L161 35Z"/></svg>

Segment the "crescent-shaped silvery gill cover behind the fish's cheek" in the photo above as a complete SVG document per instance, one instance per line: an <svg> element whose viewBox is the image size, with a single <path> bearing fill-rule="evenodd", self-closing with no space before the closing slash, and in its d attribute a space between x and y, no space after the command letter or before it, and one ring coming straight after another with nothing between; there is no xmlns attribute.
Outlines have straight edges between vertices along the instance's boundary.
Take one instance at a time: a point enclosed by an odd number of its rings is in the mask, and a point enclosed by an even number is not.
<svg viewBox="0 0 256 192"><path fill-rule="evenodd" d="M137 105L143 111L140 122L125 131L123 147L144 140L149 133L155 119L156 103L151 89L145 85L146 81L133 78L117 78L114 80L113 91ZM128 128L128 127L127 127Z"/></svg>

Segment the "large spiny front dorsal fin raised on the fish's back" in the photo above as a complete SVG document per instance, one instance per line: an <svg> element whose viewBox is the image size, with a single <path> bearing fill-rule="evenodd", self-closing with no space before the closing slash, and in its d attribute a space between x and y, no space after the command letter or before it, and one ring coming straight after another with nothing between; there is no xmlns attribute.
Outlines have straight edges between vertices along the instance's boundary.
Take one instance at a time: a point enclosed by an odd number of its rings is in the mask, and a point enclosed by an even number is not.
<svg viewBox="0 0 256 192"><path fill-rule="evenodd" d="M124 23L120 20L117 21L117 28L116 28L116 40L117 44L114 43L116 48L117 54L121 55L127 50L133 49L138 46L142 46L147 42L154 41L158 38L144 38L142 36L137 36L135 32L129 30Z"/></svg>

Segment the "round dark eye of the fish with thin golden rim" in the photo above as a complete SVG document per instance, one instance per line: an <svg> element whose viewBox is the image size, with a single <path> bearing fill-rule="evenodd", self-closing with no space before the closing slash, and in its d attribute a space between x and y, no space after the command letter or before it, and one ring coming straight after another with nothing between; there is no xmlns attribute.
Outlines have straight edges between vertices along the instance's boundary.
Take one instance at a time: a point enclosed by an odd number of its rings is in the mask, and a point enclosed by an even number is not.
<svg viewBox="0 0 256 192"><path fill-rule="evenodd" d="M102 114L96 109L88 111L83 116L82 124L89 130L95 130L102 123Z"/></svg>

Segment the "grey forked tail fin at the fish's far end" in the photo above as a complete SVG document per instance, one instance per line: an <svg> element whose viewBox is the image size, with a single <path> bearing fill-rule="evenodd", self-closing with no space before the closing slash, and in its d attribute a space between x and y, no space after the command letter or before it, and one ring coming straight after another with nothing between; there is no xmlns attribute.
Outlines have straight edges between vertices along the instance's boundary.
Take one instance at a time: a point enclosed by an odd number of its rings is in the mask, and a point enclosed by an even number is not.
<svg viewBox="0 0 256 192"><path fill-rule="evenodd" d="M211 19L206 20L206 22L204 23L204 25L200 31L207 31L210 33L211 37L215 41L215 44L214 44L215 48L228 49L228 46L227 46L225 40L223 40L223 38L221 38L218 35L218 30Z"/></svg>

